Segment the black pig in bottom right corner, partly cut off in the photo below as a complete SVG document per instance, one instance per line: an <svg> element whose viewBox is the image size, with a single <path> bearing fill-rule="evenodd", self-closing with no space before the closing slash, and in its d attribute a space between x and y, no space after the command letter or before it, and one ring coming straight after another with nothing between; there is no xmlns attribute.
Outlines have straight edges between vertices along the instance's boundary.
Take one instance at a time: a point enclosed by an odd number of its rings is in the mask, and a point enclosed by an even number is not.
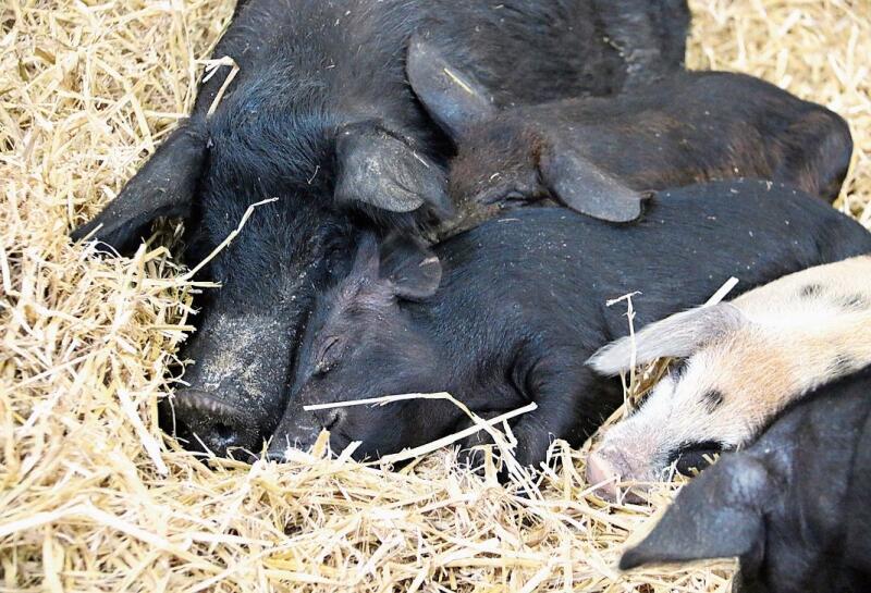
<svg viewBox="0 0 871 593"><path fill-rule="evenodd" d="M819 387L748 449L725 454L619 566L738 556L737 591L864 593L869 492L871 367Z"/></svg>

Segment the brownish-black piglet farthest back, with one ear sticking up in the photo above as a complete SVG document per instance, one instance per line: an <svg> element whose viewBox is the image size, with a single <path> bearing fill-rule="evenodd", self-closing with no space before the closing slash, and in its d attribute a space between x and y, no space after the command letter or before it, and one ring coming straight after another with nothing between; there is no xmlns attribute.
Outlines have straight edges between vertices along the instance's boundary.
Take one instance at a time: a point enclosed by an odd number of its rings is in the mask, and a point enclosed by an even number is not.
<svg viewBox="0 0 871 593"><path fill-rule="evenodd" d="M457 144L458 212L442 235L542 198L625 222L648 190L712 180L773 180L831 201L852 152L839 115L744 74L678 71L617 97L500 111L432 48L413 46L408 60L413 88Z"/></svg>

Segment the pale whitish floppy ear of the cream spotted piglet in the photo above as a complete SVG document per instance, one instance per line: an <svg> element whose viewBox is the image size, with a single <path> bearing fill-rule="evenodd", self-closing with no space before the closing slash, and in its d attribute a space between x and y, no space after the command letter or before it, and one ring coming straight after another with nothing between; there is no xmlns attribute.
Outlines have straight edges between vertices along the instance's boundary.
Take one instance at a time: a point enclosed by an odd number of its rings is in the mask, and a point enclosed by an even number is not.
<svg viewBox="0 0 871 593"><path fill-rule="evenodd" d="M658 358L686 358L748 323L744 313L731 302L698 307L650 323L635 334L636 362L646 365ZM587 366L603 375L629 369L633 357L630 336L615 339L593 354Z"/></svg>

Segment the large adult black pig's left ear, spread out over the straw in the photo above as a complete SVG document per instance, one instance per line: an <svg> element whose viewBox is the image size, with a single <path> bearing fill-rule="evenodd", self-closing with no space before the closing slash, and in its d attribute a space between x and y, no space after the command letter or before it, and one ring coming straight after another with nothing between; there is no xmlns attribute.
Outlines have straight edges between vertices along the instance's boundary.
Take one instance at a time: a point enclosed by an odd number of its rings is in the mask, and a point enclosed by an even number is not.
<svg viewBox="0 0 871 593"><path fill-rule="evenodd" d="M158 217L187 217L206 162L205 124L188 121L175 129L121 194L90 222L71 233L90 235L121 252L136 247ZM99 228L98 228L99 227Z"/></svg>

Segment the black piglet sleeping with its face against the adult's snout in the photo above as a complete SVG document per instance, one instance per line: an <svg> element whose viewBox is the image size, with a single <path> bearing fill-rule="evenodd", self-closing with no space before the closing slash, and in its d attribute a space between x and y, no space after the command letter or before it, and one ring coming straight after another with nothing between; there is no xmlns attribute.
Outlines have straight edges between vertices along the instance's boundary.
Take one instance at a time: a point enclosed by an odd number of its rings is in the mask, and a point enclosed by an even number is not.
<svg viewBox="0 0 871 593"><path fill-rule="evenodd" d="M869 250L871 234L856 221L757 181L663 192L633 225L518 209L437 246L441 285L429 298L397 297L395 282L366 264L371 254L358 255L347 279L318 299L293 391L304 405L446 391L484 416L535 401L513 432L518 460L538 465L552 437L579 444L622 401L618 382L584 363L627 332L625 308L606 308L608 299L641 291L641 328L704 301L732 275L749 289ZM316 371L322 345L335 339L328 370ZM335 449L363 442L358 458L465 422L451 404L431 400L319 413ZM275 440L295 422L285 416Z"/></svg>

